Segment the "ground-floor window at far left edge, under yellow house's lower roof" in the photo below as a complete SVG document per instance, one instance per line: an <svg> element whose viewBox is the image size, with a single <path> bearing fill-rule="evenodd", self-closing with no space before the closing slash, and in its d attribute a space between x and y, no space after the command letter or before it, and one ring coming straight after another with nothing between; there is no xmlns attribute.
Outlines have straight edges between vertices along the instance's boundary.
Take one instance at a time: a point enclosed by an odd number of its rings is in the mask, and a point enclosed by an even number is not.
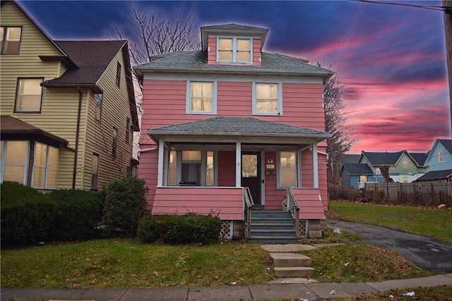
<svg viewBox="0 0 452 301"><path fill-rule="evenodd" d="M1 141L1 182L27 183L28 141Z"/></svg>

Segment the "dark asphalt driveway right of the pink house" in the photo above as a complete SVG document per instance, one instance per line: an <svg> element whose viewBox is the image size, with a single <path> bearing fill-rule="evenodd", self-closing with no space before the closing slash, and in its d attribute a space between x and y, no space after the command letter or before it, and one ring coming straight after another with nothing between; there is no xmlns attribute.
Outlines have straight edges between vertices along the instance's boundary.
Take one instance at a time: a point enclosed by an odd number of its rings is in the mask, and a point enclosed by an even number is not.
<svg viewBox="0 0 452 301"><path fill-rule="evenodd" d="M422 269L452 273L452 245L446 242L367 223L328 219L328 228L335 227L364 238L352 243L377 245L395 250Z"/></svg>

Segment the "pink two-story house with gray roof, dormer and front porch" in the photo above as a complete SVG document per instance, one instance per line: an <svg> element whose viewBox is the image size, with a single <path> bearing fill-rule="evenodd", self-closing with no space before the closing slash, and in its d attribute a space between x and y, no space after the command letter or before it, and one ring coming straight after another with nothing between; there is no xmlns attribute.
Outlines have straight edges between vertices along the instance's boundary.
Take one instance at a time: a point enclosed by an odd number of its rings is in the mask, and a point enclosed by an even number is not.
<svg viewBox="0 0 452 301"><path fill-rule="evenodd" d="M328 208L323 82L263 52L268 30L201 27L202 50L160 54L143 83L139 177L152 214L218 214L225 238L321 236Z"/></svg>

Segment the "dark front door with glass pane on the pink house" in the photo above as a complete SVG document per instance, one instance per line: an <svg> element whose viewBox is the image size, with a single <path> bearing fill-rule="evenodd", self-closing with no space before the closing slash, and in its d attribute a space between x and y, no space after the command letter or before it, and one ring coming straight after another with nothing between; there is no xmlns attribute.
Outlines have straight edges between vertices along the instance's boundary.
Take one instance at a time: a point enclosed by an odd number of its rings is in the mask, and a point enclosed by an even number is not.
<svg viewBox="0 0 452 301"><path fill-rule="evenodd" d="M254 204L261 204L261 153L242 152L242 187L248 187Z"/></svg>

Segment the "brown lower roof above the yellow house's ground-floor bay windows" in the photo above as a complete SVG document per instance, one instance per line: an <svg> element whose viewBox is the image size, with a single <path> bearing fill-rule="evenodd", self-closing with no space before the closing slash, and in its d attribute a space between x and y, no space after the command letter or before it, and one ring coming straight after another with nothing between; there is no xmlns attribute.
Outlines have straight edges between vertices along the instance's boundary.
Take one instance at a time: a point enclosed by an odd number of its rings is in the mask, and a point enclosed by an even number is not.
<svg viewBox="0 0 452 301"><path fill-rule="evenodd" d="M45 130L30 125L24 121L20 121L17 118L11 116L0 116L0 132L1 135L33 135L35 137L47 137L59 143L64 143L67 145L69 142L63 138L53 135Z"/></svg>

